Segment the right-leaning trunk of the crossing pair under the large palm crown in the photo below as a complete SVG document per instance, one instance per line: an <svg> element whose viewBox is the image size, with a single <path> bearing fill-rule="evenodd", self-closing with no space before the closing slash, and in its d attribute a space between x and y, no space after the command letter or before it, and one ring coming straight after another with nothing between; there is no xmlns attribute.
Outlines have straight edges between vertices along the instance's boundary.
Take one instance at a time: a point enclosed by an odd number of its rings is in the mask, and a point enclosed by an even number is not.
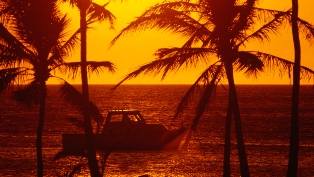
<svg viewBox="0 0 314 177"><path fill-rule="evenodd" d="M226 74L227 74L228 83L229 83L229 99L231 103L230 106L233 109L233 115L235 119L236 140L237 140L238 155L239 155L239 161L240 161L241 176L249 177L250 176L249 166L247 164L247 159L246 159L240 110L239 110L239 104L238 104L238 99L236 95L236 86L233 79L232 63L225 63L225 69L226 69Z"/></svg>

